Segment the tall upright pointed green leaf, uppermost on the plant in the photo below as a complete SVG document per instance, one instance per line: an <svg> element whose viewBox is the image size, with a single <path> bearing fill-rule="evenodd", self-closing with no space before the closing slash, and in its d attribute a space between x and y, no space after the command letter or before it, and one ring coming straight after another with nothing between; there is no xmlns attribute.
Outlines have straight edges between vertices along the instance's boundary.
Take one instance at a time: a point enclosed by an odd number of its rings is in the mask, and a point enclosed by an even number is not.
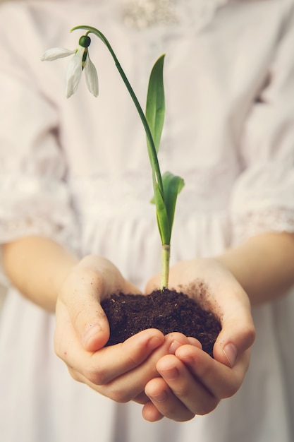
<svg viewBox="0 0 294 442"><path fill-rule="evenodd" d="M165 55L161 55L159 57L150 73L145 112L157 153L159 150L162 129L164 127L165 114L163 75L164 56Z"/></svg>

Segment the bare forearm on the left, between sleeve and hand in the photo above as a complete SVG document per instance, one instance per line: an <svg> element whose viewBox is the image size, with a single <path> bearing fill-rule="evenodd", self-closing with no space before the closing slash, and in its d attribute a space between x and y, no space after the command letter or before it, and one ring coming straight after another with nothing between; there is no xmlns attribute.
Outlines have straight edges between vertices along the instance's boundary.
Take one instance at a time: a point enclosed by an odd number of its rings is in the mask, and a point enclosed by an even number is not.
<svg viewBox="0 0 294 442"><path fill-rule="evenodd" d="M55 310L63 280L78 259L45 237L25 237L5 244L3 265L12 284L28 299Z"/></svg>

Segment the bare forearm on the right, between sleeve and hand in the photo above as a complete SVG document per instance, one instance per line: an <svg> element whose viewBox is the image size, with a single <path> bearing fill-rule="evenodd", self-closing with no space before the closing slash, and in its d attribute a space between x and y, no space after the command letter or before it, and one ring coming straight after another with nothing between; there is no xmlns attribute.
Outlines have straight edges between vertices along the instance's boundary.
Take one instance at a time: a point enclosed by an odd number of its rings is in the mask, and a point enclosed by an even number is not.
<svg viewBox="0 0 294 442"><path fill-rule="evenodd" d="M252 305L276 299L294 285L294 234L252 237L217 259L240 282Z"/></svg>

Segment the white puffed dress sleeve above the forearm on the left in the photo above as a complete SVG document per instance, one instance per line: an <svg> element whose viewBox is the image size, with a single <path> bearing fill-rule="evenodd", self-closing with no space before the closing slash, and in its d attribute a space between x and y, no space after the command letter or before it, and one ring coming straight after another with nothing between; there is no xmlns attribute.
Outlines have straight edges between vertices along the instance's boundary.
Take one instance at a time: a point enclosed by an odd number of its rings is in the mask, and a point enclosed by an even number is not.
<svg viewBox="0 0 294 442"><path fill-rule="evenodd" d="M56 105L40 92L25 56L0 42L0 244L40 234L75 249ZM11 35L11 39L16 36Z"/></svg>

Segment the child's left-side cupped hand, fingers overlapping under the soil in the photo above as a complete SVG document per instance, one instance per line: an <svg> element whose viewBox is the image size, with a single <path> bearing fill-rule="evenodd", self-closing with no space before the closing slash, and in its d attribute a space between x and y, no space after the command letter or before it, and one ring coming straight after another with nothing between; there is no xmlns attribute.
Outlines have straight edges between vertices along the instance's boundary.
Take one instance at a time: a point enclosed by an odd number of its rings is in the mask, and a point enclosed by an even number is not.
<svg viewBox="0 0 294 442"><path fill-rule="evenodd" d="M76 381L118 402L136 398L145 403L145 385L159 376L156 362L169 354L171 340L149 329L122 344L104 347L109 323L100 302L119 291L139 293L106 259L82 259L66 278L56 304L55 350ZM188 341L183 337L180 342Z"/></svg>

